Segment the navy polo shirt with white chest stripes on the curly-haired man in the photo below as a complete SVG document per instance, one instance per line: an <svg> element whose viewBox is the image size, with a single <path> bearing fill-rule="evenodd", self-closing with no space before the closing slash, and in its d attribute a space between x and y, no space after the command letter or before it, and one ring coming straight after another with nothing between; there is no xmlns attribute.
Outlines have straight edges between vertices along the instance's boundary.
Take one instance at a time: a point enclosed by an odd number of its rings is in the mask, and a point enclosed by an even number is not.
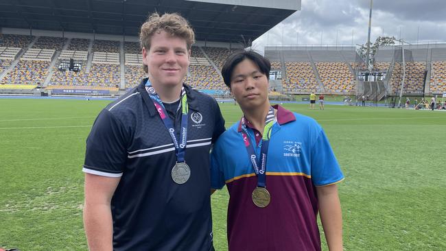
<svg viewBox="0 0 446 251"><path fill-rule="evenodd" d="M145 91L146 80L99 113L86 140L83 171L121 178L111 202L114 250L211 250L209 150L224 132L220 108L185 85L191 176L176 184L174 143Z"/></svg>

